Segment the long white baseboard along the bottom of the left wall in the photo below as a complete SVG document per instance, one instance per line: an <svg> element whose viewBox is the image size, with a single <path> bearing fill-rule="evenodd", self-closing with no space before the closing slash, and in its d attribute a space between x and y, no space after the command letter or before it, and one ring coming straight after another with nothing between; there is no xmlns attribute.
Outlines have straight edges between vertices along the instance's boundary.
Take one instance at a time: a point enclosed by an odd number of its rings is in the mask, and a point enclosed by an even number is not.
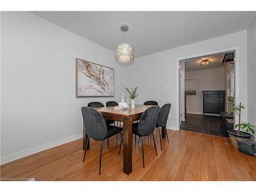
<svg viewBox="0 0 256 192"><path fill-rule="evenodd" d="M27 157L29 155L32 155L32 154L35 154L35 153L38 153L38 152L41 152L41 151L48 150L49 148L52 148L52 147L55 147L55 146L58 146L58 145L62 145L62 144L65 144L65 143L68 143L68 142L71 142L71 141L74 141L74 140L77 140L77 139L80 139L80 138L82 138L82 134L78 134L78 135L74 135L74 136L67 137L67 138L64 138L64 139L60 139L58 141L53 141L53 142L50 142L50 143L47 143L47 144L43 144L43 145L40 145L40 146L30 148L30 149L22 151L22 152L18 152L18 153L12 154L12 155L2 157L0 159L0 165L9 163L11 161L14 161L14 160L17 160L17 159L20 159L20 158Z"/></svg>

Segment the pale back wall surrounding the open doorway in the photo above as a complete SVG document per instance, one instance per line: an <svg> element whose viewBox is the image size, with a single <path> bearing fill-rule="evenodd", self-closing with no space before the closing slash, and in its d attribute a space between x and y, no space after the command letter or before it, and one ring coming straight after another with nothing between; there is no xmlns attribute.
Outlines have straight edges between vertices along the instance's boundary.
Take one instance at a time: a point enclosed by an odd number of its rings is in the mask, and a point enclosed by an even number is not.
<svg viewBox="0 0 256 192"><path fill-rule="evenodd" d="M194 55L210 53L218 50L239 47L240 63L240 101L247 105L247 32L246 30L237 33L212 38L195 44L146 55L135 58L131 65L131 79L133 86L139 86L139 97L136 103L143 103L145 100L153 99L160 105L172 103L168 126L177 125L177 58L193 57ZM165 91L165 86L170 86L171 91ZM179 104L178 104L179 105ZM247 120L247 110L242 114L243 120Z"/></svg>

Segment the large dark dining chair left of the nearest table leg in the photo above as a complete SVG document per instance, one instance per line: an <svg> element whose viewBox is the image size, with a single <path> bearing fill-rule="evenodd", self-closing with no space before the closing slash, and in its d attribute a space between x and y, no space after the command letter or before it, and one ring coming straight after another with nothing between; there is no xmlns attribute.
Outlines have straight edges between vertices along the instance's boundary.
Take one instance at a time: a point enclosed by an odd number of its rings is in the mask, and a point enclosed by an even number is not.
<svg viewBox="0 0 256 192"><path fill-rule="evenodd" d="M119 155L121 151L121 144L123 141L122 129L119 127L106 124L102 115L93 108L89 108L88 106L82 107L82 117L83 123L86 126L86 133L88 135L86 142L86 151L84 151L83 162L86 158L87 147L89 143L89 139L92 138L94 140L100 141L100 156L99 156L99 175L101 170L101 156L102 156L102 144L103 140L110 138L116 134L121 134Z"/></svg>

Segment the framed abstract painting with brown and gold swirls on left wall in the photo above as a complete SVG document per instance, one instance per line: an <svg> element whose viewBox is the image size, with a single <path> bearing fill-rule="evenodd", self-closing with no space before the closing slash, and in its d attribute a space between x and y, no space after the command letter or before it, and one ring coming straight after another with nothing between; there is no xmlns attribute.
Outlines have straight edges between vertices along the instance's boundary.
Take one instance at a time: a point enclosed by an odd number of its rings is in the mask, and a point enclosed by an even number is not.
<svg viewBox="0 0 256 192"><path fill-rule="evenodd" d="M76 97L114 97L114 69L76 58Z"/></svg>

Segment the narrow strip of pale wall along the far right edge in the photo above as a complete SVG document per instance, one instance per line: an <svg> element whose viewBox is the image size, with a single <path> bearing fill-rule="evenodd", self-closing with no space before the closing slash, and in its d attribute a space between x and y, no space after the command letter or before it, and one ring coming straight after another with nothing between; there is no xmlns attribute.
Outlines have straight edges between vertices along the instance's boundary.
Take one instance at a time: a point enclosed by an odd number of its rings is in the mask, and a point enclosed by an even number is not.
<svg viewBox="0 0 256 192"><path fill-rule="evenodd" d="M248 43L248 121L256 125L256 17L247 30ZM254 129L254 141L256 141L256 128Z"/></svg>

